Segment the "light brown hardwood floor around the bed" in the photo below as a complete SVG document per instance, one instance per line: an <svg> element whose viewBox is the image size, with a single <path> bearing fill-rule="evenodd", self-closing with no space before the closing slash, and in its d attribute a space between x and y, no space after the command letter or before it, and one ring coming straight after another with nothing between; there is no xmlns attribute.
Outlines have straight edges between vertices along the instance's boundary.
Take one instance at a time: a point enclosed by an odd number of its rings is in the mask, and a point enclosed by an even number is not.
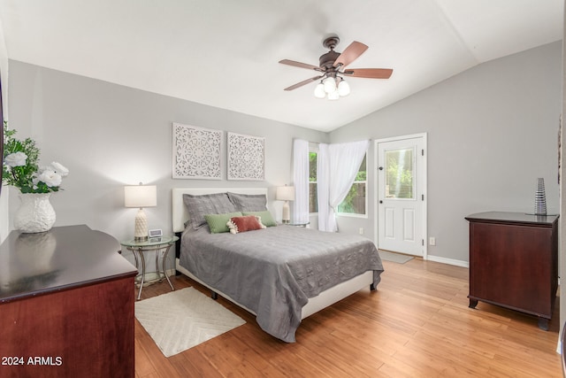
<svg viewBox="0 0 566 378"><path fill-rule="evenodd" d="M166 359L136 320L136 377L562 377L559 298L545 332L529 315L482 302L468 308L468 269L419 258L384 266L377 291L302 320L297 343L265 334L249 312L219 298L247 324ZM209 294L184 276L172 282ZM157 283L142 298L170 290Z"/></svg>

